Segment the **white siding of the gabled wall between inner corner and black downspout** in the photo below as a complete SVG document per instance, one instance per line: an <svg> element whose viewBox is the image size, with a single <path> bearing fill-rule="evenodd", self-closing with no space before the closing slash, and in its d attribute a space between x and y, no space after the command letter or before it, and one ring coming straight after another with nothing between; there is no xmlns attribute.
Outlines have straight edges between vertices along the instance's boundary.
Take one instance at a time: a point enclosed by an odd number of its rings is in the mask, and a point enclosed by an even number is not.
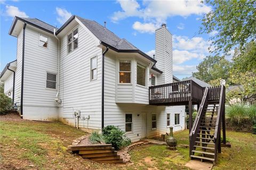
<svg viewBox="0 0 256 170"><path fill-rule="evenodd" d="M60 105L61 119L74 124L74 111L81 111L82 116L90 120L79 121L79 126L86 129L101 128L101 56L92 33L78 25L79 47L71 53L67 52L67 37L61 38L60 48ZM71 29L70 29L71 31ZM97 56L97 80L91 81L91 58ZM106 85L105 85L106 86Z"/></svg>

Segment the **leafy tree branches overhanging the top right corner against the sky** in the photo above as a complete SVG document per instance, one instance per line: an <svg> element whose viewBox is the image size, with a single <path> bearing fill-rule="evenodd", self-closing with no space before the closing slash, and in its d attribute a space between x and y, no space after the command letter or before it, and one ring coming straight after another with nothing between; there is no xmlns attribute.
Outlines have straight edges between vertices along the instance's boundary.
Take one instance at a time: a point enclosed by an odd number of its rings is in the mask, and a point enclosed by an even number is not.
<svg viewBox="0 0 256 170"><path fill-rule="evenodd" d="M199 33L218 32L210 37L214 52L228 54L231 49L256 39L256 1L254 0L205 0L212 10L204 15Z"/></svg>

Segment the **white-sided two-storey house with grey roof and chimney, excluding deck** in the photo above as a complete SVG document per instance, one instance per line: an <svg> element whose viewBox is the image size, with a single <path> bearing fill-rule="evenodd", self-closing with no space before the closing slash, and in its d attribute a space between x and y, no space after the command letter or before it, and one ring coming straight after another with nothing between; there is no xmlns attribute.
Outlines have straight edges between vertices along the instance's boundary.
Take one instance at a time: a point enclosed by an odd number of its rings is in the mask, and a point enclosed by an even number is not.
<svg viewBox="0 0 256 170"><path fill-rule="evenodd" d="M17 61L0 77L24 119L74 125L80 111L80 128L115 125L132 141L169 132L169 126L185 129L185 106L149 105L150 86L180 81L172 74L165 24L156 30L156 59L76 15L59 29L16 16L9 35L17 37Z"/></svg>

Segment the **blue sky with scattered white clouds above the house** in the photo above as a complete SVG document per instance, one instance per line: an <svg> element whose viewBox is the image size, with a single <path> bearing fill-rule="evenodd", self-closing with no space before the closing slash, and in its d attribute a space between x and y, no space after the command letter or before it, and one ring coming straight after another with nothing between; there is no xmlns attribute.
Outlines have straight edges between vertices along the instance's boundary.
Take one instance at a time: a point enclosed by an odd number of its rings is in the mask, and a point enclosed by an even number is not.
<svg viewBox="0 0 256 170"><path fill-rule="evenodd" d="M17 38L8 35L15 15L37 18L59 28L72 14L95 20L143 52L153 55L155 29L162 23L173 35L173 72L185 78L207 56L211 35L197 35L211 7L199 1L1 1L1 70L15 60ZM212 32L214 35L216 32Z"/></svg>

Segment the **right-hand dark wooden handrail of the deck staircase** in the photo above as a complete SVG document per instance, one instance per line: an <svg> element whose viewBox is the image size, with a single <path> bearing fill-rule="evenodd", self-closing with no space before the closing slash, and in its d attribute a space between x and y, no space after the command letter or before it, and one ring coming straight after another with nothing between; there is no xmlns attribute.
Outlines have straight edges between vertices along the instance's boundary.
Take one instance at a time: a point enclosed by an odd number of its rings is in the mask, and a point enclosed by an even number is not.
<svg viewBox="0 0 256 170"><path fill-rule="evenodd" d="M220 101L219 101L219 109L218 109L218 115L217 115L217 120L216 120L216 125L215 125L215 131L214 131L214 143L216 142L218 138L218 131L221 128L221 117L223 114L223 106L225 105L225 86L221 85L221 90L220 90Z"/></svg>

